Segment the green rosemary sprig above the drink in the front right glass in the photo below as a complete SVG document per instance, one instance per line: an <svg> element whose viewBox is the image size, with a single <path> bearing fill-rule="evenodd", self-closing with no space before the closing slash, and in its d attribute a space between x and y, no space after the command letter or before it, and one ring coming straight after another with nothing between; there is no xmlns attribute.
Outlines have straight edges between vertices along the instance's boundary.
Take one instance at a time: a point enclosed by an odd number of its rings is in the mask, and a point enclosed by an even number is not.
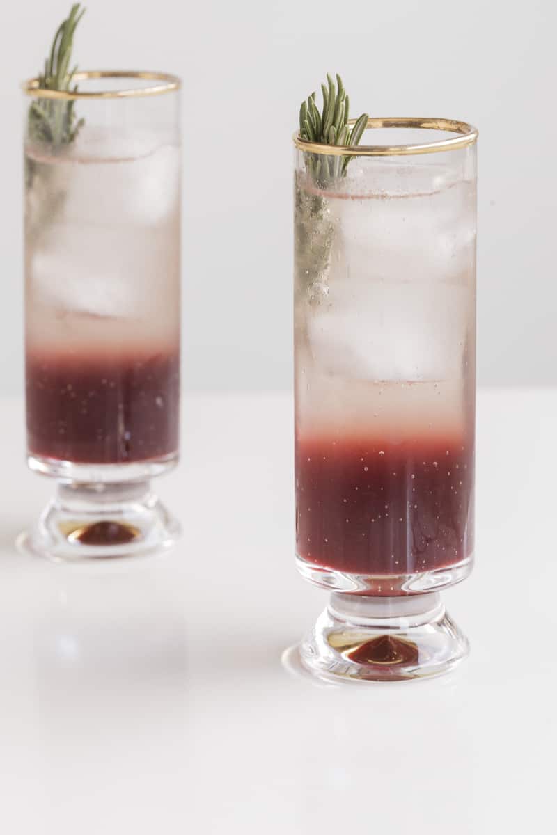
<svg viewBox="0 0 557 835"><path fill-rule="evenodd" d="M300 108L300 137L310 142L325 145L357 145L367 128L367 113L357 119L352 129L350 118L350 100L337 73L337 84L327 73L327 86L321 85L323 96L322 113L316 105L316 94L312 93ZM347 172L352 159L349 156L326 156L325 154L307 154L306 167L313 180L319 185L327 185L330 180L337 180Z"/></svg>

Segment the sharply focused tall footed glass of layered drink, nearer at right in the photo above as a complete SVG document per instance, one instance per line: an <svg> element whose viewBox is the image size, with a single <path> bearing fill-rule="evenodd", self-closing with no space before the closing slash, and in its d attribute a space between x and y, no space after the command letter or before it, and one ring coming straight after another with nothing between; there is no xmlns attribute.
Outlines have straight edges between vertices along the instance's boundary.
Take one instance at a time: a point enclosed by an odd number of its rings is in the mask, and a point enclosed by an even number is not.
<svg viewBox="0 0 557 835"><path fill-rule="evenodd" d="M365 137L295 139L296 559L332 592L300 652L396 681L468 651L439 591L473 564L477 132Z"/></svg>

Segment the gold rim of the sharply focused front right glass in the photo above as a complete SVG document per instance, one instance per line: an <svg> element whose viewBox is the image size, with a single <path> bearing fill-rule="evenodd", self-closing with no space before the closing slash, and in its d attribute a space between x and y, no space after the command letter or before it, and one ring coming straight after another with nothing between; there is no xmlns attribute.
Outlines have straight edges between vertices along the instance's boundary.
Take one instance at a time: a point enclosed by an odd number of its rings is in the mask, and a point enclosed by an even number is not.
<svg viewBox="0 0 557 835"><path fill-rule="evenodd" d="M356 124L350 119L348 124ZM458 136L408 145L326 145L310 142L294 134L294 144L301 151L327 156L408 156L408 154L437 154L439 151L453 151L473 145L478 139L478 129L466 122L455 119L424 119L419 116L382 116L367 119L368 128L414 128L426 130L447 130Z"/></svg>

